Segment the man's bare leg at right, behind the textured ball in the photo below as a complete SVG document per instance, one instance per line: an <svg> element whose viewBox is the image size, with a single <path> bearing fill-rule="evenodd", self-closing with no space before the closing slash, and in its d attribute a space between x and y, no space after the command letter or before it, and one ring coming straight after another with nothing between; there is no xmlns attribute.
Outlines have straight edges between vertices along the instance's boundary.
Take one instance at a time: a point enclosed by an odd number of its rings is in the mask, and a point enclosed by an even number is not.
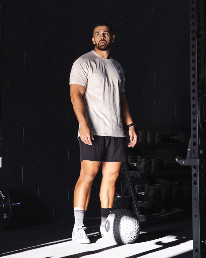
<svg viewBox="0 0 206 258"><path fill-rule="evenodd" d="M115 183L122 162L102 162L102 180L100 186L101 208L111 208L114 202Z"/></svg>

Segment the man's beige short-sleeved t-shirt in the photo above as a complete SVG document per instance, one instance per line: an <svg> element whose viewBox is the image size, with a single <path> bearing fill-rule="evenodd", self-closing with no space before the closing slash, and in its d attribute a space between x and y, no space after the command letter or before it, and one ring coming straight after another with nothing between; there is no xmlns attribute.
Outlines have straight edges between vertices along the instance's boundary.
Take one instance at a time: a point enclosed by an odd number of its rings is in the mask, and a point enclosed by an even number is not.
<svg viewBox="0 0 206 258"><path fill-rule="evenodd" d="M93 135L124 137L120 106L124 80L124 71L116 60L102 58L93 50L74 62L70 84L86 87L82 99Z"/></svg>

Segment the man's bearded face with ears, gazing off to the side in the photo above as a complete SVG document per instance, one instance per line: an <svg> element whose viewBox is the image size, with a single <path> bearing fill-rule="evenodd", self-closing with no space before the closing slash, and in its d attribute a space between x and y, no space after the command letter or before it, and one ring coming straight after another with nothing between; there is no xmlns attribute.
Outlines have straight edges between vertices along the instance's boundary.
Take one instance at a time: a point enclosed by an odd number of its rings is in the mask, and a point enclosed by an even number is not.
<svg viewBox="0 0 206 258"><path fill-rule="evenodd" d="M92 42L101 51L109 50L115 36L111 34L108 26L95 27Z"/></svg>

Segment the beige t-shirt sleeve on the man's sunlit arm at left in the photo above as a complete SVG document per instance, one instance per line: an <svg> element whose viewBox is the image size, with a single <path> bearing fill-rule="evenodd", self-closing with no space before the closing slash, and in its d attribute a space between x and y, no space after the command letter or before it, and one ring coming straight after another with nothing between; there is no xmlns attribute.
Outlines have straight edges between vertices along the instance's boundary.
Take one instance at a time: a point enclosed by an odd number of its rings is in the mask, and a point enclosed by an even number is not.
<svg viewBox="0 0 206 258"><path fill-rule="evenodd" d="M79 84L86 87L87 80L88 80L88 65L80 57L72 65L69 84Z"/></svg>

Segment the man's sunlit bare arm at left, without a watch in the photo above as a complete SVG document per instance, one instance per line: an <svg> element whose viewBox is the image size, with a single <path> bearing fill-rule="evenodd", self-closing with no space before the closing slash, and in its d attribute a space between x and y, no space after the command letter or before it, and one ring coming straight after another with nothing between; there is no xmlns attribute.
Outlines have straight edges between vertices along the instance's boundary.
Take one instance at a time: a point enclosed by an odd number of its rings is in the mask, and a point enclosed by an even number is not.
<svg viewBox="0 0 206 258"><path fill-rule="evenodd" d="M74 108L74 113L79 122L80 139L85 144L92 145L93 134L86 121L85 107L82 100L86 87L78 84L70 84L71 102Z"/></svg>

